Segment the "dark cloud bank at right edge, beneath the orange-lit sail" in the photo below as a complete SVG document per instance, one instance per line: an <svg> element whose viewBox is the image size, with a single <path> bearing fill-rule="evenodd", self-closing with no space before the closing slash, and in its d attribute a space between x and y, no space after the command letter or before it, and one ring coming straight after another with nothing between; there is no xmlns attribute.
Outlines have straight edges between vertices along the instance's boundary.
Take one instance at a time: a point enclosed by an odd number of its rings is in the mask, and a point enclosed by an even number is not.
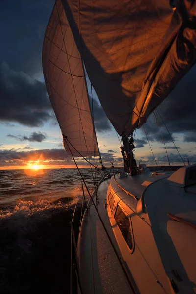
<svg viewBox="0 0 196 294"><path fill-rule="evenodd" d="M184 133L183 141L196 142L196 66L179 82L172 93L158 107L158 111L172 134ZM172 142L158 115L165 142ZM152 114L144 125L149 140L162 142L160 129ZM142 128L141 128L142 130ZM173 139L175 137L173 136Z"/></svg>

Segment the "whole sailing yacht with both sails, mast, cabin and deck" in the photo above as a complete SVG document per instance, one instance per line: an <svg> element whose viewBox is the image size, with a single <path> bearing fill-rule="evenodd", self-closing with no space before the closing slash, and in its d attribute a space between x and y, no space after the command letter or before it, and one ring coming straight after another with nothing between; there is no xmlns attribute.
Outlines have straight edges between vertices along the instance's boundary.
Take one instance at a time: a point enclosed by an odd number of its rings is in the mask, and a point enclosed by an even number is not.
<svg viewBox="0 0 196 294"><path fill-rule="evenodd" d="M195 64L195 52L195 0L55 1L43 72L90 197L75 248L78 293L196 293L196 165L137 167L132 135ZM123 141L123 171L110 179L85 73ZM92 194L77 158L104 173Z"/></svg>

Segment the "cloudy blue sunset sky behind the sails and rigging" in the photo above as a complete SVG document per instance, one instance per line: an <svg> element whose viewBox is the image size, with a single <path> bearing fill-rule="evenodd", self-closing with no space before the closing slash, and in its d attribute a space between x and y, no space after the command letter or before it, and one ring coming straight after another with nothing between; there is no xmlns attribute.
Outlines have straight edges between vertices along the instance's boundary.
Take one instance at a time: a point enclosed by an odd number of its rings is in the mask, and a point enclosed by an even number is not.
<svg viewBox="0 0 196 294"><path fill-rule="evenodd" d="M75 167L63 149L42 71L42 45L54 0L2 0L0 9L0 169ZM135 133L140 163L167 164L158 121L172 164L196 162L196 66ZM98 145L103 160L123 166L120 141L94 97ZM165 125L170 134L168 133ZM175 142L174 146L172 139ZM148 140L147 140L148 139ZM179 153L181 154L181 157ZM85 161L78 159L80 166Z"/></svg>

